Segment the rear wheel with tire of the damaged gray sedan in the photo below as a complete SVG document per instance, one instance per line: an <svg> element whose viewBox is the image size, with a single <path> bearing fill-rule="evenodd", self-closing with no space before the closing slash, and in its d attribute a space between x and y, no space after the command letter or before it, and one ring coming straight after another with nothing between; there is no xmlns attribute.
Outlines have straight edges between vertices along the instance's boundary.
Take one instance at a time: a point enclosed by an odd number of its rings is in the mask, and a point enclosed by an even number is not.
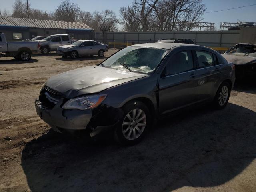
<svg viewBox="0 0 256 192"><path fill-rule="evenodd" d="M226 105L228 104L230 92L231 92L230 84L228 82L223 82L218 88L214 98L213 104L216 109L223 109L226 107Z"/></svg>

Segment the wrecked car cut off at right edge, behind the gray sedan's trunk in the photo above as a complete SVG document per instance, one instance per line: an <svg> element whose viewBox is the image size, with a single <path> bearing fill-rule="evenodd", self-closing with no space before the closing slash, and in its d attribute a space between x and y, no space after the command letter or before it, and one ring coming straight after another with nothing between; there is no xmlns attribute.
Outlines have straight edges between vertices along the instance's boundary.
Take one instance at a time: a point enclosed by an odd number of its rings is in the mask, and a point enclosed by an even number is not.
<svg viewBox="0 0 256 192"><path fill-rule="evenodd" d="M235 64L236 78L256 76L256 44L236 44L228 49L223 57Z"/></svg>

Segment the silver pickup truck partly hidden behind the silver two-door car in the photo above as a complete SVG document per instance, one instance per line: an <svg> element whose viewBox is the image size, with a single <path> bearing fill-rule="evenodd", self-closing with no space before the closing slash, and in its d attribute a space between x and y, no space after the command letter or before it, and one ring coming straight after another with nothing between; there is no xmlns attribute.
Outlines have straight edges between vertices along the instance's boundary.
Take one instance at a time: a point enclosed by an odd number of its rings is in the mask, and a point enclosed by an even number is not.
<svg viewBox="0 0 256 192"><path fill-rule="evenodd" d="M68 34L50 35L44 40L38 40L42 54L56 51L59 46L70 45L77 40L71 40Z"/></svg>

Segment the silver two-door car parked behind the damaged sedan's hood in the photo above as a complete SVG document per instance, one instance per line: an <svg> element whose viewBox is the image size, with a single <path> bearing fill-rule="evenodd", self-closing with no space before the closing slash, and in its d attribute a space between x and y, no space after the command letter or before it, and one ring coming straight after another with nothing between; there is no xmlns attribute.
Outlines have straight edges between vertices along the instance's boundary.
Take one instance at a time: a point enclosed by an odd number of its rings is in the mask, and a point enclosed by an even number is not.
<svg viewBox="0 0 256 192"><path fill-rule="evenodd" d="M108 51L108 45L92 40L79 40L71 45L63 45L57 48L57 54L62 57L70 56L72 59L78 56L98 55L103 57L105 51Z"/></svg>

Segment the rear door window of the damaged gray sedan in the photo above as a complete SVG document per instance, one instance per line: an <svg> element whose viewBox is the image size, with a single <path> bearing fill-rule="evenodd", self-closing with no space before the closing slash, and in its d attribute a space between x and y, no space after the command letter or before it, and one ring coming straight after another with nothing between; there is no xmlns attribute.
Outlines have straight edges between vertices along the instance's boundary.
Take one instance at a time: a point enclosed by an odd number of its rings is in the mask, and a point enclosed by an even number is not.
<svg viewBox="0 0 256 192"><path fill-rule="evenodd" d="M198 59L198 68L204 68L214 66L213 54L208 51L196 51L196 57Z"/></svg>

